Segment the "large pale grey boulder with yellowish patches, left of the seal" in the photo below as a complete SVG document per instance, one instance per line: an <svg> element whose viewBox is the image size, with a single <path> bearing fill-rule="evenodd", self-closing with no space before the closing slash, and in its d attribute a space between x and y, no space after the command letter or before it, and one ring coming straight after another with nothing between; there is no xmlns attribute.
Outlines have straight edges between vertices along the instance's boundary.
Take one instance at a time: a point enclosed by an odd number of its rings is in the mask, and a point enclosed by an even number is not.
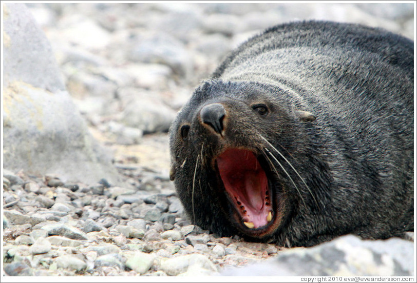
<svg viewBox="0 0 417 283"><path fill-rule="evenodd" d="M4 167L119 183L65 90L44 33L23 4L4 5Z"/></svg>

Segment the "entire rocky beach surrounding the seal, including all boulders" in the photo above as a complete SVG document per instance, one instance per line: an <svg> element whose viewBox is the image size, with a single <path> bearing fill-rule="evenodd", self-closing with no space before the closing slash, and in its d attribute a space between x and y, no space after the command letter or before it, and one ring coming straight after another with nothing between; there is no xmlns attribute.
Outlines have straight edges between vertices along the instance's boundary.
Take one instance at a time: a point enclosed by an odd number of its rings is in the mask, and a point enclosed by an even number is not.
<svg viewBox="0 0 417 283"><path fill-rule="evenodd" d="M414 39L415 4L2 5L4 276L415 278L413 233L290 248L194 226L167 134L194 87L263 29L326 19Z"/></svg>

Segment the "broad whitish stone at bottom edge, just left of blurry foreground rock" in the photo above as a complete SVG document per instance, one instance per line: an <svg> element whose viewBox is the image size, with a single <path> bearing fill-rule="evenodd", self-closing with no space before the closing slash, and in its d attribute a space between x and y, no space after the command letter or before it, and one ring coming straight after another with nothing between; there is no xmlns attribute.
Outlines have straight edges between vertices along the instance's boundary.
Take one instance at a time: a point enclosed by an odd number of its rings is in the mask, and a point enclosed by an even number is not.
<svg viewBox="0 0 417 283"><path fill-rule="evenodd" d="M186 272L189 267L203 268L208 271L216 272L217 269L213 262L204 255L190 254L181 255L174 258L162 259L160 269L170 276L177 276L180 273Z"/></svg>

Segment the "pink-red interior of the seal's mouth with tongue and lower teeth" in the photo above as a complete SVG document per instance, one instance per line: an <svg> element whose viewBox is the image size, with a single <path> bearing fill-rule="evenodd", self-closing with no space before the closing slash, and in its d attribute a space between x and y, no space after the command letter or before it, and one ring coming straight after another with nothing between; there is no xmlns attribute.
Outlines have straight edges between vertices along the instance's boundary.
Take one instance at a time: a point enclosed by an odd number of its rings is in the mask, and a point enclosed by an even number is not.
<svg viewBox="0 0 417 283"><path fill-rule="evenodd" d="M244 149L227 149L217 157L224 188L244 222L254 228L268 224L271 209L268 179L255 154Z"/></svg>

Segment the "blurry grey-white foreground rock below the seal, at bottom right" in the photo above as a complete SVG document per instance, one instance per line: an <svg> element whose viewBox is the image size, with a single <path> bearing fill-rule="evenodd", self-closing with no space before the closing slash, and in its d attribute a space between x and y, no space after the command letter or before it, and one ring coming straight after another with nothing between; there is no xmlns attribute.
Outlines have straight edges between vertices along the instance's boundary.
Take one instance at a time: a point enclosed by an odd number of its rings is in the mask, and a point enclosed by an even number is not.
<svg viewBox="0 0 417 283"><path fill-rule="evenodd" d="M281 251L270 260L229 268L222 276L412 276L413 242L361 240L347 235L311 247Z"/></svg>

